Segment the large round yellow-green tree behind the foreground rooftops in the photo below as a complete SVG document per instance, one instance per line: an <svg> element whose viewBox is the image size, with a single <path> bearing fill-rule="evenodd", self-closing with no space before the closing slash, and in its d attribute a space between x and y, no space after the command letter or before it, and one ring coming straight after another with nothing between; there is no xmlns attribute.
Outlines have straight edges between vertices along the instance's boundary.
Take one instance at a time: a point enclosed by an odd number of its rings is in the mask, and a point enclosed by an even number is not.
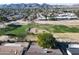
<svg viewBox="0 0 79 59"><path fill-rule="evenodd" d="M38 34L37 43L43 48L54 48L55 47L55 38L50 33Z"/></svg>

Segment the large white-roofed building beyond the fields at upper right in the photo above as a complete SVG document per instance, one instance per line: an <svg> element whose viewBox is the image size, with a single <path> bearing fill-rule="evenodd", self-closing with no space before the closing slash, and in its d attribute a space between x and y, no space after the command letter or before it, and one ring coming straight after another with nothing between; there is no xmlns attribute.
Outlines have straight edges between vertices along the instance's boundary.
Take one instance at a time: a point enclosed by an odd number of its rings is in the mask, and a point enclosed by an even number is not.
<svg viewBox="0 0 79 59"><path fill-rule="evenodd" d="M75 20L78 17L74 13L61 13L54 16L57 20Z"/></svg>

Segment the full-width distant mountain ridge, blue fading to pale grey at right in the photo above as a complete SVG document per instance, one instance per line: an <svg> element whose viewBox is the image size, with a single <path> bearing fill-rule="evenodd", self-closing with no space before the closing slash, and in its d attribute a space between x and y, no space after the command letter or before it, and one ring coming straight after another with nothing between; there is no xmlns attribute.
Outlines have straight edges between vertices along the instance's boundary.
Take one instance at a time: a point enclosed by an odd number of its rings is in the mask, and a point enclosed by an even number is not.
<svg viewBox="0 0 79 59"><path fill-rule="evenodd" d="M27 8L79 8L79 4L77 5L50 5L50 4L38 4L38 3L29 3L29 4L3 4L0 5L0 8L12 8L12 9L27 9Z"/></svg>

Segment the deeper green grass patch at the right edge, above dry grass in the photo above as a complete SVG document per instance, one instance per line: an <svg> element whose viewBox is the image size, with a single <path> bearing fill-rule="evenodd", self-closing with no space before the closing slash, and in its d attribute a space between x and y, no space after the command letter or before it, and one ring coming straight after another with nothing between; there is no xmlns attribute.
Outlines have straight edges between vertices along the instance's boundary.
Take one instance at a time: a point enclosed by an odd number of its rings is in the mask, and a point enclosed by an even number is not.
<svg viewBox="0 0 79 59"><path fill-rule="evenodd" d="M73 32L73 33L77 33L79 32L79 28L77 27L67 27L64 25L55 25L53 26L53 31L57 32L57 33L65 33L65 32Z"/></svg>

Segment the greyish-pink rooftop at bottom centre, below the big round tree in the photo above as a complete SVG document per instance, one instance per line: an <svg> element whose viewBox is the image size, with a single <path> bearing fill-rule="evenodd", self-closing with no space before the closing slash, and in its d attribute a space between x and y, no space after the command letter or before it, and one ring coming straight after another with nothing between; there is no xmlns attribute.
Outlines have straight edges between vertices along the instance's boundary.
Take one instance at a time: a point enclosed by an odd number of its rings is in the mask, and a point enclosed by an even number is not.
<svg viewBox="0 0 79 59"><path fill-rule="evenodd" d="M38 46L37 43L32 43L26 55L62 55L59 49L48 49L49 53L45 53L45 50Z"/></svg>

